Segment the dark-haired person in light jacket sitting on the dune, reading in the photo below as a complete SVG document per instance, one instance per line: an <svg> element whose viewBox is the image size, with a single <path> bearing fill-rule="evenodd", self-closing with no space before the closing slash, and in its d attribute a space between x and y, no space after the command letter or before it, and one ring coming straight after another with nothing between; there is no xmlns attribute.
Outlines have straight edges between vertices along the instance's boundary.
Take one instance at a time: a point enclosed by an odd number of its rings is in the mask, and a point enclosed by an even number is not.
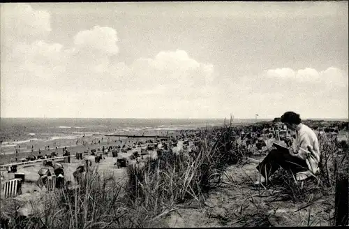
<svg viewBox="0 0 349 229"><path fill-rule="evenodd" d="M257 166L260 177L255 184L267 182L280 166L294 173L297 180L304 180L318 172L320 149L315 132L309 126L302 124L302 119L295 112L285 112L281 116L281 121L296 132L296 138L288 150L272 149L269 152Z"/></svg>

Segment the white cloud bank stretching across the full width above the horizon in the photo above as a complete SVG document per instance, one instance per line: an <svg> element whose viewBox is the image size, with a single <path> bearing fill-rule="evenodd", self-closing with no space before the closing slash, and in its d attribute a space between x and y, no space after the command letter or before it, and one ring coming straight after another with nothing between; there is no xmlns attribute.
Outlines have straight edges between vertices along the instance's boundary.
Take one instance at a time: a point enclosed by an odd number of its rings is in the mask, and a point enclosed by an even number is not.
<svg viewBox="0 0 349 229"><path fill-rule="evenodd" d="M222 82L212 64L184 50L163 50L126 64L112 57L119 54L119 43L111 27L77 32L69 49L47 41L50 30L50 13L25 4L1 5L1 39L6 40L6 58L1 49L2 116L205 118L232 112L237 118L255 113L273 118L285 110L302 117L348 114L348 73L339 68L276 68Z"/></svg>

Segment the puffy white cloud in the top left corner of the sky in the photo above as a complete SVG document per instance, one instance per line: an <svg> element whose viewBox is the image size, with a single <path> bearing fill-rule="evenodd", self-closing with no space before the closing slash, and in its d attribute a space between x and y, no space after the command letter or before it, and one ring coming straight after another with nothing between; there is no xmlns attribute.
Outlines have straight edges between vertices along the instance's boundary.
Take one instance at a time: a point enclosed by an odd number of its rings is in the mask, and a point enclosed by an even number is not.
<svg viewBox="0 0 349 229"><path fill-rule="evenodd" d="M43 39L51 31L50 13L34 10L25 3L1 4L1 43L31 43Z"/></svg>

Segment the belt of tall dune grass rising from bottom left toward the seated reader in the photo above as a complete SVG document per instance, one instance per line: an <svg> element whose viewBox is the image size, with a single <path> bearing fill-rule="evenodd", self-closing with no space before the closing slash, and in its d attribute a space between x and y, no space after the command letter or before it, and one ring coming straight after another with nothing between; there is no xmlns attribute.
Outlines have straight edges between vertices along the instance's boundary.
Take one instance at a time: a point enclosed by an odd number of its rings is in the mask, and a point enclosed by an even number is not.
<svg viewBox="0 0 349 229"><path fill-rule="evenodd" d="M31 202L33 220L27 228L142 228L159 225L161 217L186 200L202 205L207 191L221 184L225 167L244 155L235 142L231 125L199 131L196 149L172 150L144 165L128 165L127 179L117 182L113 175L88 171L76 189L47 193ZM16 228L15 215L9 216ZM34 220L35 219L35 220ZM27 223L26 223L27 222ZM29 223L30 222L30 223Z"/></svg>

